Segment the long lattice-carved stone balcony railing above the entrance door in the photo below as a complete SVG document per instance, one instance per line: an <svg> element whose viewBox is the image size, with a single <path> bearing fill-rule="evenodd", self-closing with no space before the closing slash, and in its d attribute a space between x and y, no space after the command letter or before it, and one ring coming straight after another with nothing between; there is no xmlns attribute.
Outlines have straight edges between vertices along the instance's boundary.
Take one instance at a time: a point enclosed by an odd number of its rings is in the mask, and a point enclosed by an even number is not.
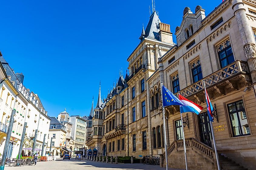
<svg viewBox="0 0 256 170"><path fill-rule="evenodd" d="M231 76L237 75L239 73L248 73L248 67L247 63L245 61L237 60L230 65L222 68L221 70L218 70L211 75L208 75L205 77L205 86L212 86L214 84L217 84L221 81L225 81L229 79ZM188 86L187 88L184 88L180 91L180 94L184 97L193 95L194 93L203 90L203 84L202 81L195 82L194 84Z"/></svg>

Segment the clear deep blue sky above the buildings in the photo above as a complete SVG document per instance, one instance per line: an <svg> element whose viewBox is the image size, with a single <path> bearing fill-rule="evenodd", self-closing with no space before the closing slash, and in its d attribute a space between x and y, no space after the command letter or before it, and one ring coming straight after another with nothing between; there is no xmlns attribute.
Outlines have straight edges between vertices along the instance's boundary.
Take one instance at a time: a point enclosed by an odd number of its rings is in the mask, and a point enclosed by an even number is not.
<svg viewBox="0 0 256 170"><path fill-rule="evenodd" d="M155 6L175 33L186 6L194 12L201 5L207 15L221 2L156 0ZM121 68L125 74L149 5L152 11L151 0L2 1L0 50L50 116L65 107L70 115L88 115L99 81L104 97Z"/></svg>

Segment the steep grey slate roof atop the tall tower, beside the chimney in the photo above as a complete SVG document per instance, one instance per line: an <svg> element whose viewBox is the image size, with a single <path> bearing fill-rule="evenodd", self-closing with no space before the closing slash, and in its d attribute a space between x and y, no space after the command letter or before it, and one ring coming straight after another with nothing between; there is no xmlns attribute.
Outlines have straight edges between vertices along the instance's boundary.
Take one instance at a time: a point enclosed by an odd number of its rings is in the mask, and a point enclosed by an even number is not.
<svg viewBox="0 0 256 170"><path fill-rule="evenodd" d="M158 34L158 32L160 31L158 24L160 22L161 22L160 19L158 18L156 12L154 11L148 21L148 25L145 30L145 38L160 41L159 34Z"/></svg>

